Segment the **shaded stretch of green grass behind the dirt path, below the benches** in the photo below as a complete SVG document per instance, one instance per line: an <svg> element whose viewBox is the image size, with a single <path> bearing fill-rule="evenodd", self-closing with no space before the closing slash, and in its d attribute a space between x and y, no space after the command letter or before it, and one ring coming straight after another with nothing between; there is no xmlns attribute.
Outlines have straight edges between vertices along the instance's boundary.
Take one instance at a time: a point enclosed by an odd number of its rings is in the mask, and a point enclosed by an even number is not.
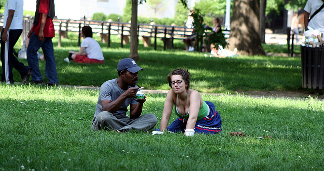
<svg viewBox="0 0 324 171"><path fill-rule="evenodd" d="M100 86L106 80L117 77L116 66L119 60L128 58L129 44L120 48L120 39L111 37L111 47L101 43L104 54L104 64L67 64L63 61L68 56L68 50L77 51L77 35L69 33L69 39L62 39L62 47L57 47L58 38L54 38L55 56L59 84ZM100 41L100 37L94 36ZM153 39L152 39L153 42ZM138 65L144 69L139 72L139 86L146 89L168 90L166 76L172 70L187 68L192 74L191 86L200 92L235 93L238 90L260 91L296 91L302 89L301 59L280 56L246 56L237 58L209 58L205 53L187 52L183 42L175 40L175 50L163 50L163 42L157 40L157 50L144 47L139 41ZM278 52L283 45L263 45L266 51ZM17 43L16 48L19 48ZM209 54L207 55L209 56ZM20 60L27 64L27 60ZM45 77L45 62L39 62L39 67ZM14 80L21 81L19 73L14 70Z"/></svg>

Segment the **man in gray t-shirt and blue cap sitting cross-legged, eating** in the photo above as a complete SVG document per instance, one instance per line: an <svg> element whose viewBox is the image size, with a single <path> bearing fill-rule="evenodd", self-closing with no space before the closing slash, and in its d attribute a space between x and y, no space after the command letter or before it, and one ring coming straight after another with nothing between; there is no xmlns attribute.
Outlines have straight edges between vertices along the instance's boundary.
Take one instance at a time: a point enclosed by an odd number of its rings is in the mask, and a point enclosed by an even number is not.
<svg viewBox="0 0 324 171"><path fill-rule="evenodd" d="M118 78L108 80L100 87L92 129L111 129L119 132L148 131L156 125L153 114L142 115L145 98L136 99L138 71L143 70L130 58L117 65ZM130 117L126 116L130 105Z"/></svg>

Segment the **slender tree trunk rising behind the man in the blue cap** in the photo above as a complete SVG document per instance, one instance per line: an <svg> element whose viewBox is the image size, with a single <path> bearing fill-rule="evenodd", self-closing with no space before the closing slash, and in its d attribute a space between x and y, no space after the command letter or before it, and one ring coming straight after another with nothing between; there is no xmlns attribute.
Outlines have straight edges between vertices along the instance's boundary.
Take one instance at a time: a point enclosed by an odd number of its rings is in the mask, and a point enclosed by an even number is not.
<svg viewBox="0 0 324 171"><path fill-rule="evenodd" d="M131 52L129 58L134 61L139 61L140 57L138 56L138 42L137 42L137 6L138 0L132 0L132 19L131 19Z"/></svg>

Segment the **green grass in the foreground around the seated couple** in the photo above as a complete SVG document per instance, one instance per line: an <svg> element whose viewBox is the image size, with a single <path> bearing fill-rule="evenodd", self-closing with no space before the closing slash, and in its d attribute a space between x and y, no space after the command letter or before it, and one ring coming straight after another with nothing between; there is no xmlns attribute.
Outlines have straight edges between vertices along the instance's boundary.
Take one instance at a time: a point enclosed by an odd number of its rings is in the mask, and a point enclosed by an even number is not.
<svg viewBox="0 0 324 171"><path fill-rule="evenodd" d="M185 137L92 131L98 93L1 84L0 170L324 169L324 106L317 99L203 95L220 113L223 132ZM154 113L158 128L165 94L146 96L143 113ZM234 131L248 137L228 135Z"/></svg>

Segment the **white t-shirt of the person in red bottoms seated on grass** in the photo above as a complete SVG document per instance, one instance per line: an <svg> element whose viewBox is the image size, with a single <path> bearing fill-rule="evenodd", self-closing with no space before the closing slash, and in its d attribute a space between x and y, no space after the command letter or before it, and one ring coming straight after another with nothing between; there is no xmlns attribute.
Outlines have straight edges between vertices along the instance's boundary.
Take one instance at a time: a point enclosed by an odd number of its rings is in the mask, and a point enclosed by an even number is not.
<svg viewBox="0 0 324 171"><path fill-rule="evenodd" d="M103 54L99 43L92 37L86 37L82 43L81 47L86 47L85 52L88 54L88 58L103 61Z"/></svg>

